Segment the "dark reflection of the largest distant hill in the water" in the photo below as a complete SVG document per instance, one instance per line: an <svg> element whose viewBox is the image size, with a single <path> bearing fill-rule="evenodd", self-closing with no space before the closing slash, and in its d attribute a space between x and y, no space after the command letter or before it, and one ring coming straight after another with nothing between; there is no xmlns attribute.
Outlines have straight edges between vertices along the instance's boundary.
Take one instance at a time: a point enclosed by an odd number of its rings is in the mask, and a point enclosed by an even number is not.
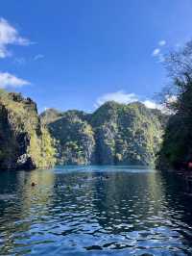
<svg viewBox="0 0 192 256"><path fill-rule="evenodd" d="M156 172L139 175L109 173L108 179L95 180L94 191L93 203L98 212L98 221L113 232L142 230L144 224L154 227L157 219L151 223L147 219L160 217L162 209L166 208L163 204L163 184Z"/></svg>

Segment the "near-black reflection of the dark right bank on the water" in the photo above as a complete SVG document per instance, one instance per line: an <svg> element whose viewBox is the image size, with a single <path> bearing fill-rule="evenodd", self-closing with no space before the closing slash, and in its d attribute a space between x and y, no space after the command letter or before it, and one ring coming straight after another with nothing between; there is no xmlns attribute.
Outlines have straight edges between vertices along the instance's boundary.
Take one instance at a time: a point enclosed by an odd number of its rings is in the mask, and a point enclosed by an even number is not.
<svg viewBox="0 0 192 256"><path fill-rule="evenodd" d="M192 248L192 185L183 174L174 172L161 172L163 186L165 188L165 201L167 203L167 216L172 218L173 224L179 226L178 233L183 244ZM192 255L190 249L190 254Z"/></svg>

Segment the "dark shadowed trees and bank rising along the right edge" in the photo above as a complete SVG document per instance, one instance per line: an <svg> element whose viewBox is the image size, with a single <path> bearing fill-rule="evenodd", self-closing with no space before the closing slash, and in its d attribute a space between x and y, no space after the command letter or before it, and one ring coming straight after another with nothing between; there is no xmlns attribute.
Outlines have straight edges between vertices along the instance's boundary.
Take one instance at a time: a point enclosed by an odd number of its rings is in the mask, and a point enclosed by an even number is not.
<svg viewBox="0 0 192 256"><path fill-rule="evenodd" d="M172 52L166 64L173 83L164 98L172 115L163 137L158 166L178 168L192 161L192 41L180 51Z"/></svg>

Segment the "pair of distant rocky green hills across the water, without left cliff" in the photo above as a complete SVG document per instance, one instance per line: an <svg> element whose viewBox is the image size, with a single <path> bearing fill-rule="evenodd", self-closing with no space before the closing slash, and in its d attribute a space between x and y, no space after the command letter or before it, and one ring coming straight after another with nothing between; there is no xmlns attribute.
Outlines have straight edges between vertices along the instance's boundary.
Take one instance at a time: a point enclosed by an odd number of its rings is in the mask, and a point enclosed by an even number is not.
<svg viewBox="0 0 192 256"><path fill-rule="evenodd" d="M40 115L57 141L62 165L154 165L165 115L140 102L107 102L93 114L47 110Z"/></svg>

